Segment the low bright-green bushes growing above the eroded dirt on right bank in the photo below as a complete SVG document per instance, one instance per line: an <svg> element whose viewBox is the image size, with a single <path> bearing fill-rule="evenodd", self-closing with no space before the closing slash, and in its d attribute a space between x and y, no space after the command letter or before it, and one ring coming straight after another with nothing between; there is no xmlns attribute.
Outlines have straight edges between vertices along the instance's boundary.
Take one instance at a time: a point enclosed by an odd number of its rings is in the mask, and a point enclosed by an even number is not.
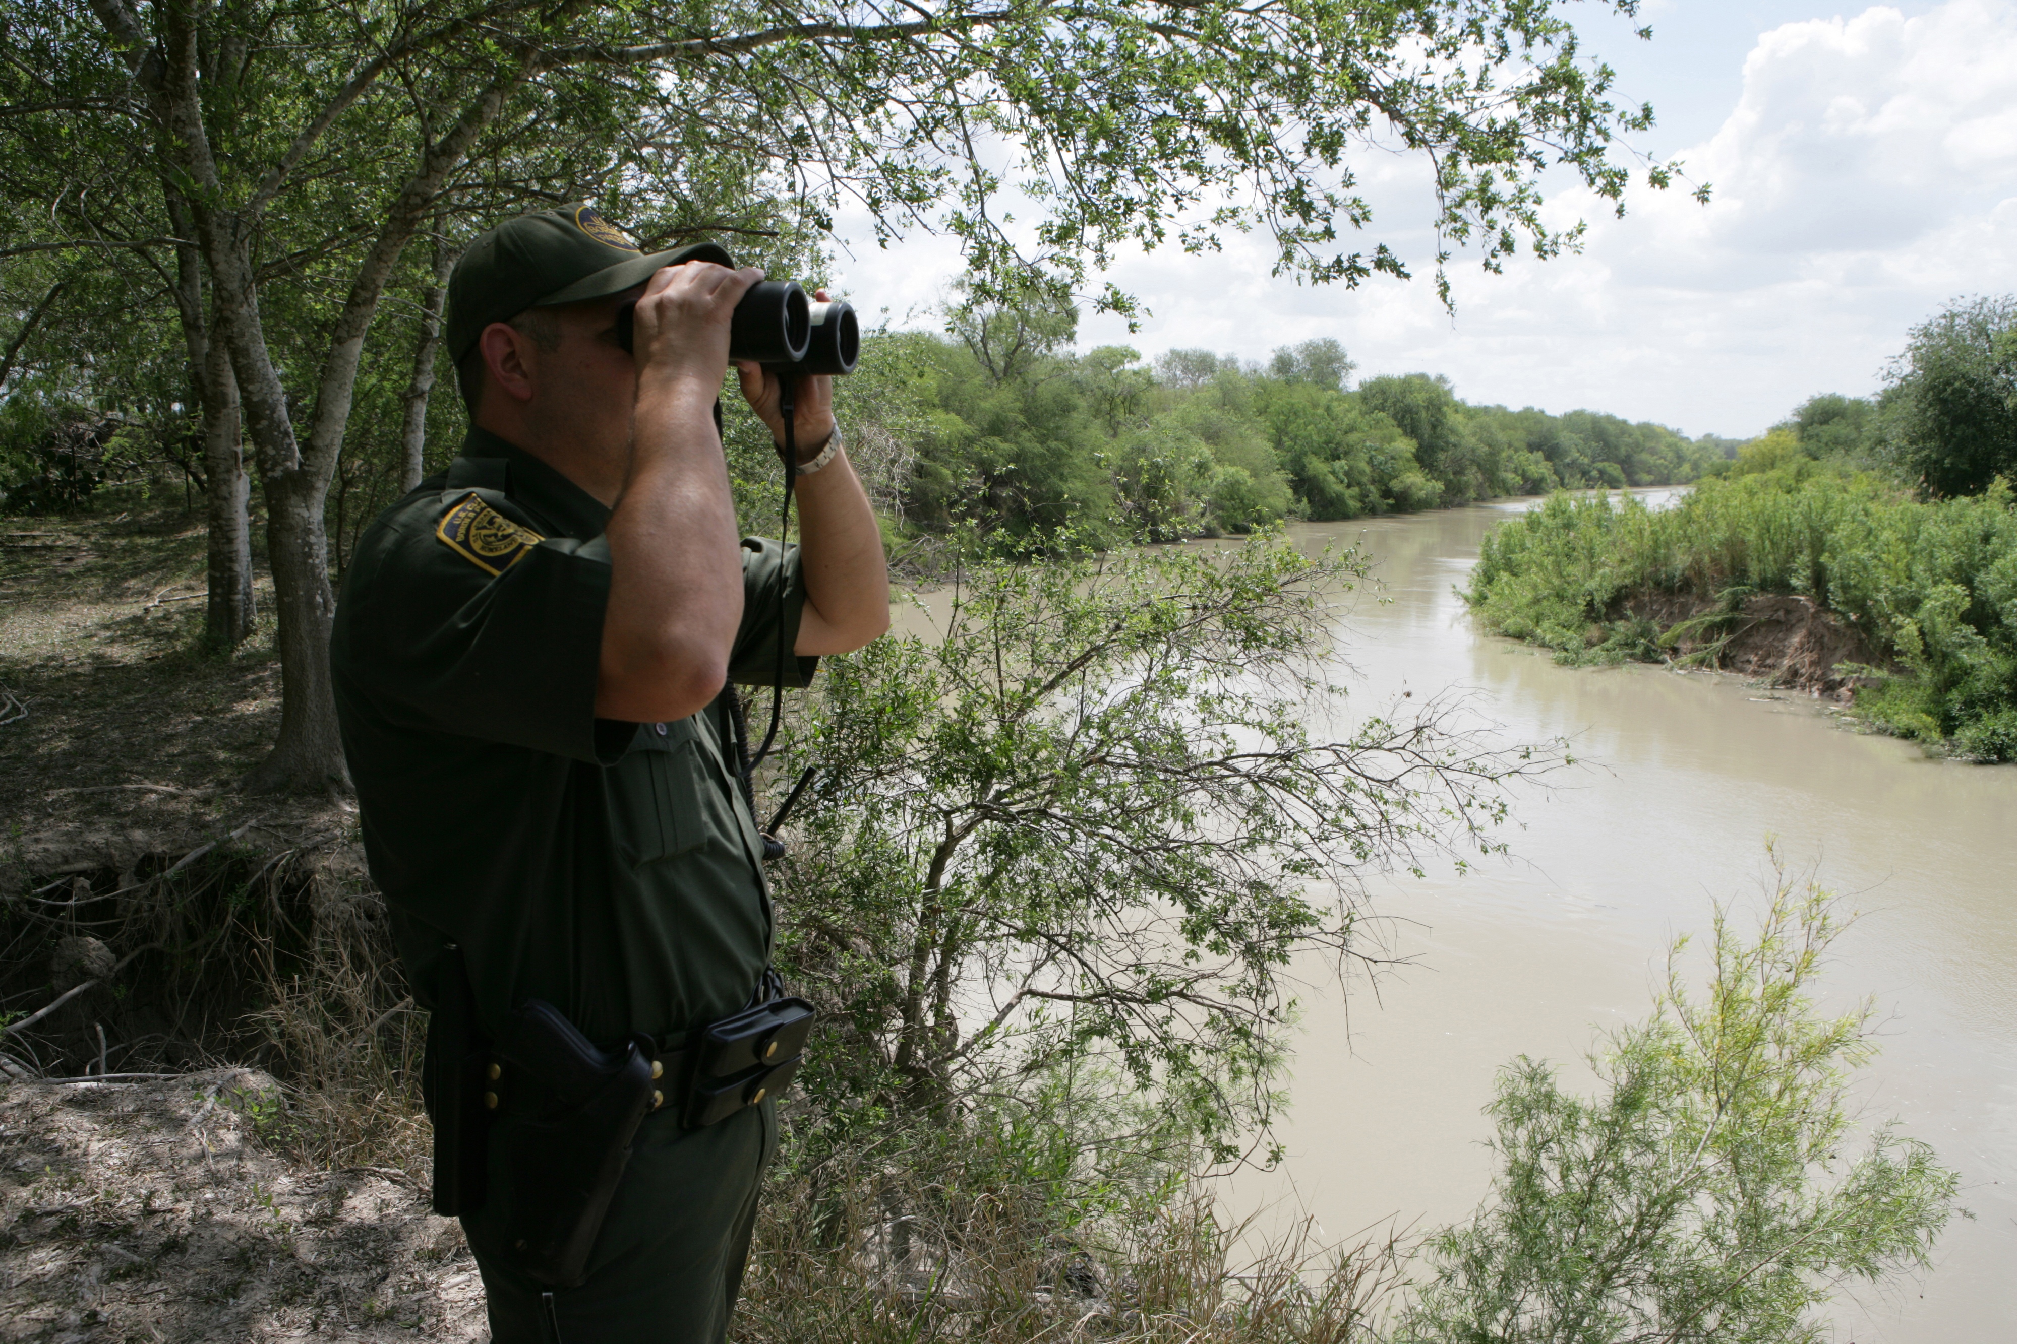
<svg viewBox="0 0 2017 1344"><path fill-rule="evenodd" d="M1914 502L1878 476L1807 457L1704 480L1662 512L1632 498L1553 496L1493 528L1464 598L1487 629L1589 661L1660 657L1644 631L1614 625L1638 590L1803 592L1904 669L1858 695L1864 719L1934 750L2017 760L2011 502L2005 482Z"/></svg>

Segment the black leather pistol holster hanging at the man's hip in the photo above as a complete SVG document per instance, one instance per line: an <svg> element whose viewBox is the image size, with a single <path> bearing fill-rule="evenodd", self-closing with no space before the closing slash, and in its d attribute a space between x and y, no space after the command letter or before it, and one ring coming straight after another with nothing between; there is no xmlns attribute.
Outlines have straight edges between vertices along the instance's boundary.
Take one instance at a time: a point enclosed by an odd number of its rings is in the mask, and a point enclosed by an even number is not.
<svg viewBox="0 0 2017 1344"><path fill-rule="evenodd" d="M541 1284L581 1284L651 1106L651 1040L597 1050L541 999L492 1046L502 1108L492 1143L510 1189L502 1257Z"/></svg>

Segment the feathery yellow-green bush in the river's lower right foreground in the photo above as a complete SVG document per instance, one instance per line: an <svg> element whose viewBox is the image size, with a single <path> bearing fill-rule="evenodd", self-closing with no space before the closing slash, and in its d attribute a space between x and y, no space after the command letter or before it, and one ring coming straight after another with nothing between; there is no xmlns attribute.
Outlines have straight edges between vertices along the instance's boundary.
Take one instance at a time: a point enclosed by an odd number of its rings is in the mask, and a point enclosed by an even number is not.
<svg viewBox="0 0 2017 1344"><path fill-rule="evenodd" d="M1652 1020L1595 1058L1597 1096L1519 1058L1489 1114L1493 1201L1430 1239L1398 1344L1791 1344L1844 1278L1928 1263L1959 1177L1876 1126L1852 1157L1852 1072L1874 1007L1811 1001L1840 931L1829 895L1779 872L1755 941L1718 911L1694 999L1668 957Z"/></svg>

